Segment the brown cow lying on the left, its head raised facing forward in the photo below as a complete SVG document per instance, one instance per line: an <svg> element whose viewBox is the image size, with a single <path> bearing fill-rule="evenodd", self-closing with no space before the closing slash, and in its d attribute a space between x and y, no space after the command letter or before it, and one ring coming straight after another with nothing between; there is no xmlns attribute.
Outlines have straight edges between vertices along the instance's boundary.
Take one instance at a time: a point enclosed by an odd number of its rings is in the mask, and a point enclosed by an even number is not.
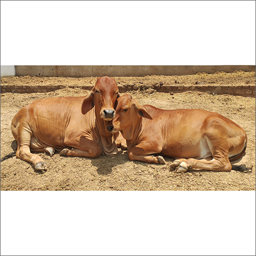
<svg viewBox="0 0 256 256"><path fill-rule="evenodd" d="M119 91L114 79L97 79L87 97L45 98L22 108L12 119L16 157L46 170L46 163L31 152L96 158L117 155L114 135L107 130L115 117ZM95 108L93 108L95 106ZM31 152L30 152L31 151Z"/></svg>

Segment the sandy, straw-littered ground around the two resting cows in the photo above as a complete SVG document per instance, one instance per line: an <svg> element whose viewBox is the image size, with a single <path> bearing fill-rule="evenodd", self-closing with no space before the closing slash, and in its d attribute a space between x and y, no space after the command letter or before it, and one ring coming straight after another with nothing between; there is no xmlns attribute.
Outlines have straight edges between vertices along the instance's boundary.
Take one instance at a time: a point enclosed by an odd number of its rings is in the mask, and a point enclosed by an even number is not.
<svg viewBox="0 0 256 256"><path fill-rule="evenodd" d="M1 190L255 190L255 98L231 95L210 95L202 92L160 93L152 89L156 83L183 84L255 84L255 72L197 74L190 76L113 77L117 84L137 86L127 92L141 104L162 109L204 109L218 112L241 125L247 133L246 155L232 164L253 166L251 172L210 172L190 170L177 174L169 165L130 161L125 151L116 157L101 155L97 159L53 157L39 154L47 162L47 172L36 172L31 163L8 158L1 162ZM49 93L1 94L1 158L14 152L11 120L23 106L38 98L83 96L89 91L72 88L77 83L94 85L96 77L6 77L4 84L63 84L65 89ZM123 93L122 93L123 94Z"/></svg>

